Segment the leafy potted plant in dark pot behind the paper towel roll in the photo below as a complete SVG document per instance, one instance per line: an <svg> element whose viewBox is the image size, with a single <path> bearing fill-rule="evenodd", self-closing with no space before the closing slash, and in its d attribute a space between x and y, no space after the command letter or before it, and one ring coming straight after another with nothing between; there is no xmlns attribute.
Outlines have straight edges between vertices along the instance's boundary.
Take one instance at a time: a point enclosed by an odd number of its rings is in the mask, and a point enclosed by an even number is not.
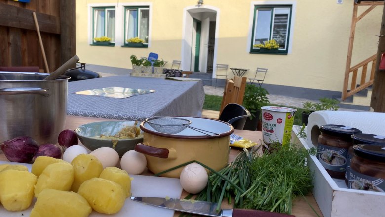
<svg viewBox="0 0 385 217"><path fill-rule="evenodd" d="M331 98L320 98L319 103L316 102L311 102L311 101L306 101L302 103L303 108L305 109L302 111L302 123L305 124L305 126L308 126L308 119L309 116L312 112L314 111L326 111L326 110L331 110L331 111L336 111L338 108L339 101L336 99L331 99Z"/></svg>

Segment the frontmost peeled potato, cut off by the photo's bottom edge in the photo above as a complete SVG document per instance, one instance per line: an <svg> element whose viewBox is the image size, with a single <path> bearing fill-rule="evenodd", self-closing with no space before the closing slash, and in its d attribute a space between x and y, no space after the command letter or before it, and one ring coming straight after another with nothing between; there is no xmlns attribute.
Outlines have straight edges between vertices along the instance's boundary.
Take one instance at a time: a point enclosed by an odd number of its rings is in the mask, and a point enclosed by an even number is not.
<svg viewBox="0 0 385 217"><path fill-rule="evenodd" d="M88 217L91 211L88 202L75 192L44 189L30 217Z"/></svg>

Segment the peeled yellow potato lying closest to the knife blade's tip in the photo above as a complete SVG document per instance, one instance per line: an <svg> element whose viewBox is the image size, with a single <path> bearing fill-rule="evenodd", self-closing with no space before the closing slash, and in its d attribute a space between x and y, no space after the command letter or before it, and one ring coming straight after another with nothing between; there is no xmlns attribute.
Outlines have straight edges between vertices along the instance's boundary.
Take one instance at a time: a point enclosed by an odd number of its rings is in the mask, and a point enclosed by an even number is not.
<svg viewBox="0 0 385 217"><path fill-rule="evenodd" d="M98 213L114 214L124 205L126 194L116 182L103 178L84 181L77 192L83 196Z"/></svg>

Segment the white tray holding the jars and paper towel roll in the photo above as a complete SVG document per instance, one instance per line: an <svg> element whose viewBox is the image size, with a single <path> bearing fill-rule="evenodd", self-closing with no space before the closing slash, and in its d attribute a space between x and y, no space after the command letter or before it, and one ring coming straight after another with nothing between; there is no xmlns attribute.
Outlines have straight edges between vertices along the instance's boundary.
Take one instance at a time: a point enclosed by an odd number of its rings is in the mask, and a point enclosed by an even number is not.
<svg viewBox="0 0 385 217"><path fill-rule="evenodd" d="M292 140L313 147L296 136L300 127L293 126ZM345 181L331 178L315 156L310 155L308 164L314 172L312 193L324 217L385 216L385 193L347 189Z"/></svg>

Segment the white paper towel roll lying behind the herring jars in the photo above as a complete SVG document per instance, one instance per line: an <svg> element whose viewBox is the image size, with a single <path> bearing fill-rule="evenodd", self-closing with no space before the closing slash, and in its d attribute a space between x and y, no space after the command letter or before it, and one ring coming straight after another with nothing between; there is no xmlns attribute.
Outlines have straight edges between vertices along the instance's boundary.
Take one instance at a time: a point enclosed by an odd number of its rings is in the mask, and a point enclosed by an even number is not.
<svg viewBox="0 0 385 217"><path fill-rule="evenodd" d="M306 128L307 144L317 146L319 128L325 124L354 127L362 133L385 135L385 113L355 111L315 111L310 114Z"/></svg>

